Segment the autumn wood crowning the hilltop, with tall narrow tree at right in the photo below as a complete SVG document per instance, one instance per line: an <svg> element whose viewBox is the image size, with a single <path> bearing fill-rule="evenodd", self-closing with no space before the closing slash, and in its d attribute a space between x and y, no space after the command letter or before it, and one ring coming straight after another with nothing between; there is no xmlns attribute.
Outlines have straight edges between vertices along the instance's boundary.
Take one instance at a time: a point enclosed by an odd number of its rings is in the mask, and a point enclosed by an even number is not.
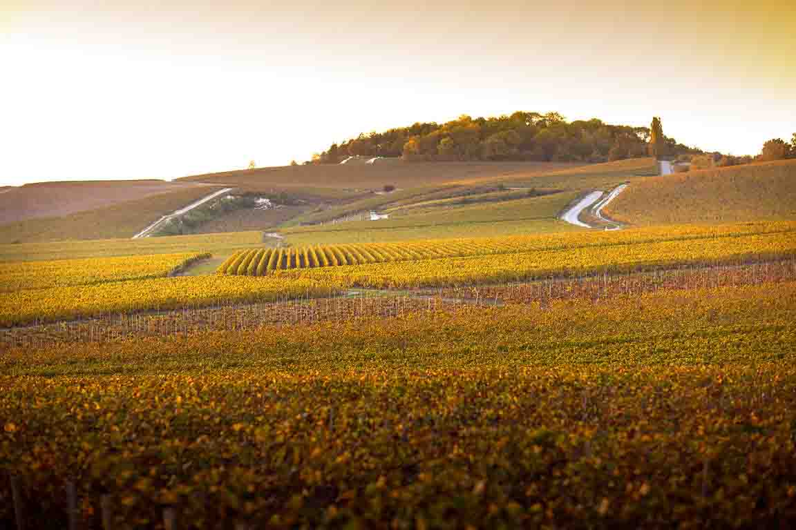
<svg viewBox="0 0 796 530"><path fill-rule="evenodd" d="M656 118L657 119L657 118ZM497 118L463 115L443 124L428 122L360 134L332 144L315 164L338 164L347 157L402 157L405 161L583 161L677 157L702 153L665 137L660 120L648 127L615 126L597 118L567 122L561 114L515 112Z"/></svg>

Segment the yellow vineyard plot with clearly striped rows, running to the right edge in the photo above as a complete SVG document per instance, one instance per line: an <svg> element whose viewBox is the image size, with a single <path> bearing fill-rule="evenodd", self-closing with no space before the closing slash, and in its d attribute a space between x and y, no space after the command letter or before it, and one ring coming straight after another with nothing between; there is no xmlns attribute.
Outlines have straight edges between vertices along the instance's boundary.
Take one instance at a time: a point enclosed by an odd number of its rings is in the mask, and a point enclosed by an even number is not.
<svg viewBox="0 0 796 530"><path fill-rule="evenodd" d="M705 251L706 259L712 259L716 256L735 255L739 251L743 253L743 249L746 249L747 253L790 253L796 250L794 237L796 237L796 223L779 222L718 227L676 226L666 230L656 228L604 234L581 232L503 238L261 248L239 250L233 253L220 265L217 272L237 276L264 276L268 273L292 269L318 269L342 265L383 264L509 253L533 253L534 259L544 263L542 266L555 269L556 267L564 268L563 260L560 263L555 263L558 257L540 253L562 251L565 252L564 259L566 259L574 252L599 250L599 253L602 253L607 250L614 253L626 253L630 250L635 254L636 261L660 261L661 258L654 251L650 252L650 259L645 260L639 255L638 249L633 247L646 248L650 244L669 243L670 245L662 250L669 256L669 261L692 259L696 256L696 249L704 246L713 247ZM735 241L736 239L737 241ZM677 243L677 245L672 245L673 243ZM728 252L722 252L720 250L722 247L728 248ZM605 260L606 264L611 262L613 262L612 259ZM595 264L595 266L599 265Z"/></svg>

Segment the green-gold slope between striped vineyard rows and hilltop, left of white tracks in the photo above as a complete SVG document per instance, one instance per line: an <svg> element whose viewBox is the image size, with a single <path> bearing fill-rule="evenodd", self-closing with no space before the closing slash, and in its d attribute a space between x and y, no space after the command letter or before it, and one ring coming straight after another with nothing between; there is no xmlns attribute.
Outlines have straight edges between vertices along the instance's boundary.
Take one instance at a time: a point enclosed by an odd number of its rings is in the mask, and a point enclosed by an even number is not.
<svg viewBox="0 0 796 530"><path fill-rule="evenodd" d="M506 173L470 184L407 188L310 211L284 223L279 231L289 244L307 245L581 230L558 219L579 194L650 175L654 175L652 158ZM390 218L357 220L357 212L370 210L384 211Z"/></svg>

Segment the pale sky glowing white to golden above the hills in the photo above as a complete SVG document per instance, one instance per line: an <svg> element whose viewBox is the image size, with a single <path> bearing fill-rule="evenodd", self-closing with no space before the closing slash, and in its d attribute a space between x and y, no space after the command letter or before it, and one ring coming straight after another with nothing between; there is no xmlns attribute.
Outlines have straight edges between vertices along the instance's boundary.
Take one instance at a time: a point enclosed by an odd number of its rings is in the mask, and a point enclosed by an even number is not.
<svg viewBox="0 0 796 530"><path fill-rule="evenodd" d="M470 3L0 0L0 184L285 165L516 110L657 115L736 155L796 133L790 2Z"/></svg>

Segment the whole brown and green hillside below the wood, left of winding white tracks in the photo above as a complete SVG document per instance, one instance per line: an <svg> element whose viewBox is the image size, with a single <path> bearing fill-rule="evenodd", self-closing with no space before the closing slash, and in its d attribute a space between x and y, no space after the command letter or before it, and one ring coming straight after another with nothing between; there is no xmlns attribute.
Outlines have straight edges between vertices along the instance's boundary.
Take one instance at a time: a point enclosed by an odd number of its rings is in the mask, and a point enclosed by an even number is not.
<svg viewBox="0 0 796 530"><path fill-rule="evenodd" d="M0 243L47 242L65 239L126 238L150 222L224 186L237 194L268 196L277 209L223 211L189 226L185 234L241 230L296 230L312 225L307 239L326 234L335 222L334 238L373 241L423 237L458 237L474 227L483 232L516 234L529 231L569 230L556 213L573 194L607 188L618 182L654 174L650 158L606 164L540 162L438 162L397 164L305 165L222 172L180 179L177 183L55 183L12 188L2 195L26 193L33 207L18 207L16 222L0 226ZM384 187L396 189L385 193ZM169 189L167 193L146 195ZM176 188L176 189L175 189ZM85 199L85 195L97 195ZM136 194L139 197L136 198ZM0 195L0 197L2 197ZM143 196L140 196L143 195ZM127 197L127 200L123 200ZM49 202L61 200L57 210ZM73 211L104 204L83 211ZM386 211L391 219L338 223L347 216ZM36 217L45 211L72 211ZM472 225L472 226L471 226ZM385 229L392 229L388 231ZM379 230L373 234L363 233ZM288 240L290 242L290 240Z"/></svg>

